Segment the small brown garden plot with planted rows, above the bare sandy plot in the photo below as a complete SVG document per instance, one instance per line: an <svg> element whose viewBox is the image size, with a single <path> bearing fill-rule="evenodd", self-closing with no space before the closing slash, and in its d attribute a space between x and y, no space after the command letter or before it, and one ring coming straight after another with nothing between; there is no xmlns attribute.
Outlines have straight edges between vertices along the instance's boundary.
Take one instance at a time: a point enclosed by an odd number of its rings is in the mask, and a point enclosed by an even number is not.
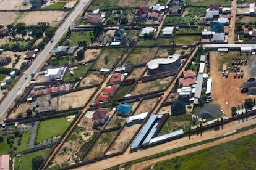
<svg viewBox="0 0 256 170"><path fill-rule="evenodd" d="M100 71L88 71L85 78L81 81L80 87L92 86L99 84L103 81L104 75L100 74Z"/></svg>

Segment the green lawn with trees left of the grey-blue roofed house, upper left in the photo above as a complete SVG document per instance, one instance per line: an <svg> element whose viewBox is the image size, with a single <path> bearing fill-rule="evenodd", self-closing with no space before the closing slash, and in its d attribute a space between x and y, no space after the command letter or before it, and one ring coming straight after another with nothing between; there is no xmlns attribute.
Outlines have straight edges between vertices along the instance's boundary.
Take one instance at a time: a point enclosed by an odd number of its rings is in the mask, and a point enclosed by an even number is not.
<svg viewBox="0 0 256 170"><path fill-rule="evenodd" d="M86 41L87 46L92 44L91 37L94 37L93 31L79 31L79 32L72 32L69 39L67 39L67 42L69 42L69 45L77 46L78 41ZM64 42L65 44L65 42Z"/></svg>

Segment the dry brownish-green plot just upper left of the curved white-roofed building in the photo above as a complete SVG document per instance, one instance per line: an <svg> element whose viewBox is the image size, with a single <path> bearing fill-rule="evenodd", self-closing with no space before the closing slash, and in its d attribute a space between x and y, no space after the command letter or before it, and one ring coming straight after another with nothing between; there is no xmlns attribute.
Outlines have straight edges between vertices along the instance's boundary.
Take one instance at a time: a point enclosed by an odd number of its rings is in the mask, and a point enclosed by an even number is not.
<svg viewBox="0 0 256 170"><path fill-rule="evenodd" d="M129 55L124 65L132 64L139 65L148 63L153 60L156 54L157 48L135 48L132 54Z"/></svg>

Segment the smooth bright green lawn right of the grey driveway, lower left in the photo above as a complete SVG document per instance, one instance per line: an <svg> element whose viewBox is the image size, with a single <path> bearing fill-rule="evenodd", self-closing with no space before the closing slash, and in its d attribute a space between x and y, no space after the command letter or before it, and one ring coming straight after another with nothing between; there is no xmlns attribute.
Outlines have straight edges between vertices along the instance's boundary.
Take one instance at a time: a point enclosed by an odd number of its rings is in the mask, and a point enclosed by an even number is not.
<svg viewBox="0 0 256 170"><path fill-rule="evenodd" d="M67 118L41 121L38 125L36 142L40 143L43 140L51 139L51 137L62 136L69 125L70 122L67 121Z"/></svg>

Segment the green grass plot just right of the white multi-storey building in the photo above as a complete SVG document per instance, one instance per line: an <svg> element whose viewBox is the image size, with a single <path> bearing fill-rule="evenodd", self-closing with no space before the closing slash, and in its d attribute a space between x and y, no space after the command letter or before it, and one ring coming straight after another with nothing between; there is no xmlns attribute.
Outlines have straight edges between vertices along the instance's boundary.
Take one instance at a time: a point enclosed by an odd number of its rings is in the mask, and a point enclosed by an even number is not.
<svg viewBox="0 0 256 170"><path fill-rule="evenodd" d="M85 73L87 72L87 70L89 70L91 65L92 65L92 63L88 63L86 65L79 65L79 66L77 66L77 68L75 68L73 70L70 70L70 68L69 68L69 70L67 70L67 75L66 75L65 79L67 81L75 81L75 78L83 77L85 75ZM74 71L75 75L71 76L70 71Z"/></svg>

